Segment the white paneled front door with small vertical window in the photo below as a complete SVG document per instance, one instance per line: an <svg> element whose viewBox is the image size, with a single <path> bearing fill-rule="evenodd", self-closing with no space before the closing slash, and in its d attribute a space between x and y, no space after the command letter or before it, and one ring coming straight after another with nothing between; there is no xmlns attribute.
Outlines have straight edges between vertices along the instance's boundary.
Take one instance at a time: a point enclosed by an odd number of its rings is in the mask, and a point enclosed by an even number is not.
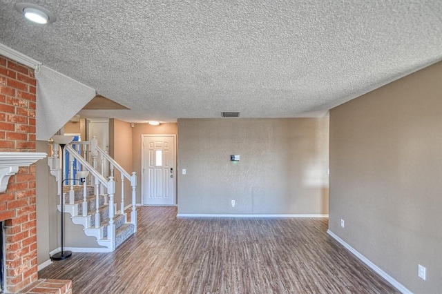
<svg viewBox="0 0 442 294"><path fill-rule="evenodd" d="M144 205L175 205L175 135L142 135Z"/></svg>

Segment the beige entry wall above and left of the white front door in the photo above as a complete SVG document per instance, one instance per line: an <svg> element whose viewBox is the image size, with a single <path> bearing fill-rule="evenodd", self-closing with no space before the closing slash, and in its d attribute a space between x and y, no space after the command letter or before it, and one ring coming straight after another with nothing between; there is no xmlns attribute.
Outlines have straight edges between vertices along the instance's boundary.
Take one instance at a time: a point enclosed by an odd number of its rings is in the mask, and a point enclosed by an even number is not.
<svg viewBox="0 0 442 294"><path fill-rule="evenodd" d="M177 124L160 124L160 126L151 126L150 124L135 124L132 128L132 163L133 171L137 173L137 204L141 203L141 135L177 135ZM179 156L179 155L177 155Z"/></svg>

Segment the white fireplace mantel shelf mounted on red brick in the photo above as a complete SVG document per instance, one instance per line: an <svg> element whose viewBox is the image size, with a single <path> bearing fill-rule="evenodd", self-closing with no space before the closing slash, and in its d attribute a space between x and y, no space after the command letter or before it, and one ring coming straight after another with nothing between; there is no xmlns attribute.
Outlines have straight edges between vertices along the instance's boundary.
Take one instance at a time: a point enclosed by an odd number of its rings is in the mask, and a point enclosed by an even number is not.
<svg viewBox="0 0 442 294"><path fill-rule="evenodd" d="M0 152L0 193L6 191L10 176L15 175L20 166L30 166L46 156L42 152Z"/></svg>

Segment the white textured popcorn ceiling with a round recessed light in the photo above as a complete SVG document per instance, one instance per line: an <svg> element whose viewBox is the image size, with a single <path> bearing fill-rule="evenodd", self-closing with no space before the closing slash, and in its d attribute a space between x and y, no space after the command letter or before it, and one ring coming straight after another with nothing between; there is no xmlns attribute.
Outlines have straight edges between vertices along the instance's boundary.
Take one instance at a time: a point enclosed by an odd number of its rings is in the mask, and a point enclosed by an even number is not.
<svg viewBox="0 0 442 294"><path fill-rule="evenodd" d="M124 121L306 117L442 59L442 1L0 0L0 43L131 110ZM63 99L63 97L60 97Z"/></svg>

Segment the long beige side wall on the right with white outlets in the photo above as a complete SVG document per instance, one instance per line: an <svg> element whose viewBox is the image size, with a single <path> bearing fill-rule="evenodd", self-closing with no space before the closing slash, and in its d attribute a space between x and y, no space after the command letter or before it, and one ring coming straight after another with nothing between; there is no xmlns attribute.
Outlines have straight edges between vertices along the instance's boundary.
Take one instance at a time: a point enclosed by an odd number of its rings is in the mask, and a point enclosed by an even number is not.
<svg viewBox="0 0 442 294"><path fill-rule="evenodd" d="M329 229L414 293L442 288L441 179L442 63L330 111Z"/></svg>

